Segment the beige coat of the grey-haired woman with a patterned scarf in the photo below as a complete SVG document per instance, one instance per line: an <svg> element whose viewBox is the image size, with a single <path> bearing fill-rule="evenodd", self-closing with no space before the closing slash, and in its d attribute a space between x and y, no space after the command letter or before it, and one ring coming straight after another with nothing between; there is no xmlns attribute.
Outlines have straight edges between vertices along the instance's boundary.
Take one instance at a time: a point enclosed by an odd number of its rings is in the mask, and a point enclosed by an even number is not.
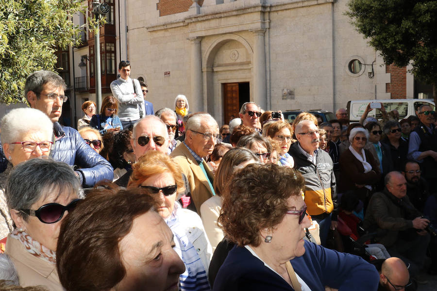
<svg viewBox="0 0 437 291"><path fill-rule="evenodd" d="M7 238L5 253L14 262L20 286L41 285L50 291L64 290L59 282L56 264L35 257L26 251L24 245L12 238L11 235Z"/></svg>

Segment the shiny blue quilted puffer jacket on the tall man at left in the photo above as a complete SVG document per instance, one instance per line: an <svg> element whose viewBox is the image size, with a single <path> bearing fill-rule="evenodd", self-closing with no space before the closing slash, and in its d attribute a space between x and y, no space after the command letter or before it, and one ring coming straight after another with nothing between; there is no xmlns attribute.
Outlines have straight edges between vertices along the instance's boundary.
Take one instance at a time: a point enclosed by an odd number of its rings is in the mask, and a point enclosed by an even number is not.
<svg viewBox="0 0 437 291"><path fill-rule="evenodd" d="M94 187L101 180L112 181L114 169L91 146L88 146L76 129L53 124L55 142L50 152L53 160L65 162L79 174L84 188Z"/></svg>

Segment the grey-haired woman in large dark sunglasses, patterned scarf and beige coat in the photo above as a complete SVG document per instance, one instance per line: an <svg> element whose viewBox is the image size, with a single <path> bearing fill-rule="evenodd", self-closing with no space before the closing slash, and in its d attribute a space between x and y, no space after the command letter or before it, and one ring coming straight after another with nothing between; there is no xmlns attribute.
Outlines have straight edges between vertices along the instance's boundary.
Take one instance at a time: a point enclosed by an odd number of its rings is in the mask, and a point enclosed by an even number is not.
<svg viewBox="0 0 437 291"><path fill-rule="evenodd" d="M56 244L62 219L78 202L80 181L64 162L33 159L12 170L6 185L11 217L5 253L21 286L63 290L56 271Z"/></svg>

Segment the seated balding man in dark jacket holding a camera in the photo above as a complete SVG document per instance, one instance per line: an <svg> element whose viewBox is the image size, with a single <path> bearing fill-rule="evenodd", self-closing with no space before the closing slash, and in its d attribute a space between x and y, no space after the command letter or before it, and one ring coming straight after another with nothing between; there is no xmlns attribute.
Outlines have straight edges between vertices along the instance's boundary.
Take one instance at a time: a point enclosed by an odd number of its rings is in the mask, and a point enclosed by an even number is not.
<svg viewBox="0 0 437 291"><path fill-rule="evenodd" d="M430 241L425 230L429 220L421 218L420 211L411 204L406 195L407 182L400 172L389 172L384 183L384 191L370 198L364 227L376 232L376 242L384 244L390 255L410 263L411 274L418 275Z"/></svg>

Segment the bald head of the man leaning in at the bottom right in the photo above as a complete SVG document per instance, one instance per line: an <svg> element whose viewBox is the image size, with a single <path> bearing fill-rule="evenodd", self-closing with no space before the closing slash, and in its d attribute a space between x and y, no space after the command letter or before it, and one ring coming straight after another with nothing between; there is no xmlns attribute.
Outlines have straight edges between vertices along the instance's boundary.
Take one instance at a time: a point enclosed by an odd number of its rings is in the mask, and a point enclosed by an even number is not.
<svg viewBox="0 0 437 291"><path fill-rule="evenodd" d="M381 268L381 283L386 285L388 290L392 290L392 286L405 286L410 281L410 274L402 259L391 257L384 261Z"/></svg>

